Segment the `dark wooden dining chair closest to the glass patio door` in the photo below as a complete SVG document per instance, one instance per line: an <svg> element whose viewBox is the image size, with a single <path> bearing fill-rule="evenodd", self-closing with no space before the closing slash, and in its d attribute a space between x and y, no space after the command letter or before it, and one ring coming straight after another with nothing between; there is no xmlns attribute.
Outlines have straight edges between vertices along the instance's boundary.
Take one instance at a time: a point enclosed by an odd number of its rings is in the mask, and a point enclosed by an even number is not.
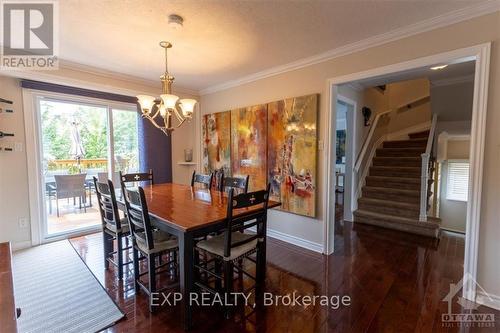
<svg viewBox="0 0 500 333"><path fill-rule="evenodd" d="M124 252L126 253L130 249L128 246L128 235L130 234L128 221L125 217L120 218L113 182L109 179L100 181L96 177L93 179L99 212L101 213L102 231L111 237L110 240L104 239L104 268L108 269L109 263L113 264L118 270L118 279L121 280L123 267L133 263L132 261L123 261ZM125 247L123 247L124 239ZM108 248L109 241L113 244L115 240L116 250L113 249L113 245ZM113 260L115 254L116 261Z"/></svg>

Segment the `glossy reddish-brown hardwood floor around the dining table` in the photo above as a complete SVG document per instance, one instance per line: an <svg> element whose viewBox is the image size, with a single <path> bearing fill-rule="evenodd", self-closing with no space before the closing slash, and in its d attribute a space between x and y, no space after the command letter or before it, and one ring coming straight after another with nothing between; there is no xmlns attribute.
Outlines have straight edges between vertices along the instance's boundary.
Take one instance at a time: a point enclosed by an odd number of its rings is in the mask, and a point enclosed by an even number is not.
<svg viewBox="0 0 500 333"><path fill-rule="evenodd" d="M101 234L71 242L126 318L109 332L182 332L179 307L148 312L148 299L135 295L130 272L118 282L114 268L104 271ZM270 306L245 308L225 320L216 308L194 311L194 332L500 332L500 311L480 306L472 313L493 313L493 328L443 326L448 306L442 299L462 276L463 236L430 238L340 221L335 253L323 256L268 239L266 290L275 295L349 295L351 304L334 310ZM453 301L453 313L468 313ZM248 318L244 313L249 314ZM256 324L257 323L257 324Z"/></svg>

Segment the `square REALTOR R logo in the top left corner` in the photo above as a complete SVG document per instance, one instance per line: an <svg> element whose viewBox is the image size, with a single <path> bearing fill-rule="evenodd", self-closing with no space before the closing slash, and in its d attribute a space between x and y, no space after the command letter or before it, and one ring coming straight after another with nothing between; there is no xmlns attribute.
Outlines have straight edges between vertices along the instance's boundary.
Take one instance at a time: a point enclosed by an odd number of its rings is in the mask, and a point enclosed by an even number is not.
<svg viewBox="0 0 500 333"><path fill-rule="evenodd" d="M0 1L0 69L58 69L57 1Z"/></svg>

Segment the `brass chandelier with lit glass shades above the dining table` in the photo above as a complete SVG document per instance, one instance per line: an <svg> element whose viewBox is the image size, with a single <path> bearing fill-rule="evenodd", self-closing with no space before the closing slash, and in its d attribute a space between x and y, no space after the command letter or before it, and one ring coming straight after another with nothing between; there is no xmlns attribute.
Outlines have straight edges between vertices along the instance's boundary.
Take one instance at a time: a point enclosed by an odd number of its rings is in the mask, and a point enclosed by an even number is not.
<svg viewBox="0 0 500 333"><path fill-rule="evenodd" d="M170 42L162 41L160 46L165 49L165 73L160 76L162 94L160 98L148 95L138 95L137 100L141 106L142 117L148 119L154 127L160 129L165 135L169 135L175 128L180 127L186 120L193 116L195 99L181 99L172 94L172 83L175 78L168 73L167 51L172 47ZM172 118L177 119L178 124L174 127ZM157 120L163 124L159 124Z"/></svg>

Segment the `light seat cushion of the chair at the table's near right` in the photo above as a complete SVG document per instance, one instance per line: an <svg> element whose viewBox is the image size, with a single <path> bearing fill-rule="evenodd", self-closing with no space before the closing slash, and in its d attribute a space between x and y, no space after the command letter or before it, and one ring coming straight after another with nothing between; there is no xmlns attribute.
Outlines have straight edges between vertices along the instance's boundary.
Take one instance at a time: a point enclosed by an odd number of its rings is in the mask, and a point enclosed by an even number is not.
<svg viewBox="0 0 500 333"><path fill-rule="evenodd" d="M231 244L239 243L254 236L255 235L253 234L233 232L231 234ZM224 260L232 261L246 254L252 253L257 248L257 242L258 239L254 239L248 243L231 248L231 255L229 257L224 256L224 234L200 241L196 246L202 250L215 254L216 256L222 257Z"/></svg>

